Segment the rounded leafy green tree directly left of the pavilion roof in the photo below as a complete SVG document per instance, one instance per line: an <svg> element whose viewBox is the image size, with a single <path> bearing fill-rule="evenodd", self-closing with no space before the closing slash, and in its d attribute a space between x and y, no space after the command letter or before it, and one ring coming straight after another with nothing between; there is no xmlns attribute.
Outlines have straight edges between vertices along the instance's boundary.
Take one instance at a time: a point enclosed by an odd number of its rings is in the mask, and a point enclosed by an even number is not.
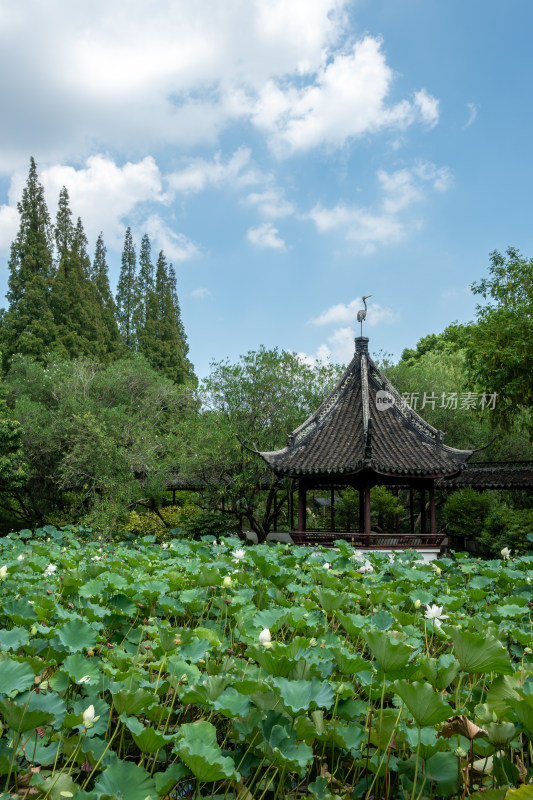
<svg viewBox="0 0 533 800"><path fill-rule="evenodd" d="M180 474L203 486L210 505L247 524L263 541L285 513L289 481L239 443L260 450L283 447L286 436L325 399L339 367L310 366L295 353L260 348L239 363L211 365L199 399L202 410L188 420L181 439Z"/></svg>

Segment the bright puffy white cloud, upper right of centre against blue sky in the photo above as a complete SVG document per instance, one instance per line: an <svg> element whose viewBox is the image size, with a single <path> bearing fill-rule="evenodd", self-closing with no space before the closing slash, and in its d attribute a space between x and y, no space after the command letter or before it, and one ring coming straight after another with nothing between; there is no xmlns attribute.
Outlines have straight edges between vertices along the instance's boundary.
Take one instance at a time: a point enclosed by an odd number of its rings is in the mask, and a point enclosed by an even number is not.
<svg viewBox="0 0 533 800"><path fill-rule="evenodd" d="M381 41L366 36L351 50L334 53L303 87L295 81L281 88L270 80L259 94L254 122L279 153L323 144L338 147L350 138L417 120L433 127L438 101L422 89L412 102L388 105L392 80Z"/></svg>

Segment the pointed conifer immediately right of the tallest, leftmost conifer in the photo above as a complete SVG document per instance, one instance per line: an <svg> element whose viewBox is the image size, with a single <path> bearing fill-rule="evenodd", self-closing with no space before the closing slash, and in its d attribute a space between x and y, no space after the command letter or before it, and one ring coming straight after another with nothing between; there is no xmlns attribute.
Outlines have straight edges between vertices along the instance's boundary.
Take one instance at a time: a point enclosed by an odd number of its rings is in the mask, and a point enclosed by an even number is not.
<svg viewBox="0 0 533 800"><path fill-rule="evenodd" d="M55 239L57 268L52 285L51 306L57 330L54 351L67 358L89 356L105 361L107 344L102 305L90 280L91 262L81 219L72 224L65 187L59 195Z"/></svg>

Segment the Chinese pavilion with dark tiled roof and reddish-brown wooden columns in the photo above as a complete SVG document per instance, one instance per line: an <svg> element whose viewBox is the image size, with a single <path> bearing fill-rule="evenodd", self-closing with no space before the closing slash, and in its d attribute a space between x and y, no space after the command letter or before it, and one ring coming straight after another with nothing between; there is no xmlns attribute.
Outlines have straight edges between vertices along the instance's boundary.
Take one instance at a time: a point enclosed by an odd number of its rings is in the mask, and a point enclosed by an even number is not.
<svg viewBox="0 0 533 800"><path fill-rule="evenodd" d="M335 533L334 490L351 486L359 492L359 532L343 534L354 544L384 547L435 546L441 538L435 523L435 482L461 473L474 450L444 444L444 434L429 425L402 400L368 354L368 338L355 339L355 355L322 405L289 434L282 450L259 452L276 475L295 479L297 543L328 543ZM408 487L411 534L371 534L370 489ZM306 529L306 494L331 490L331 532ZM413 494L420 498L420 534L415 537ZM429 531L426 520L429 496ZM379 542L378 542L379 538Z"/></svg>

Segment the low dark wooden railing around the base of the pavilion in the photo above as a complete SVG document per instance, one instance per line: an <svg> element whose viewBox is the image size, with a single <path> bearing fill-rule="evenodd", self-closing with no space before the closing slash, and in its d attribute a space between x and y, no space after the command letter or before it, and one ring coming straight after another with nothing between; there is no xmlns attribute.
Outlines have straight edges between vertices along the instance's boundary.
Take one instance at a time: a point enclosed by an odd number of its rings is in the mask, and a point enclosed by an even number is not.
<svg viewBox="0 0 533 800"><path fill-rule="evenodd" d="M335 539L344 539L354 547L368 550L409 549L441 547L446 539L443 533L355 533L346 531L290 531L294 544L333 547Z"/></svg>

